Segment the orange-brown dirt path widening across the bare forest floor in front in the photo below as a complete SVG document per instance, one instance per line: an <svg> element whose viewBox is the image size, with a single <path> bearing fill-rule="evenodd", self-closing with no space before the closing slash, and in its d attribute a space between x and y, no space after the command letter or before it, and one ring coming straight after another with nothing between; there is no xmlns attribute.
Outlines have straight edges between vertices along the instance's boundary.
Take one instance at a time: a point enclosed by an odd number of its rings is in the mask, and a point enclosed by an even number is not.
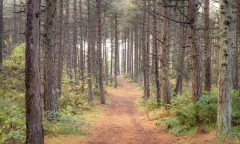
<svg viewBox="0 0 240 144"><path fill-rule="evenodd" d="M135 83L119 78L121 87L107 88L109 102L88 129L89 136L48 138L46 144L212 144L215 133L174 136L142 115L136 100L142 96Z"/></svg>

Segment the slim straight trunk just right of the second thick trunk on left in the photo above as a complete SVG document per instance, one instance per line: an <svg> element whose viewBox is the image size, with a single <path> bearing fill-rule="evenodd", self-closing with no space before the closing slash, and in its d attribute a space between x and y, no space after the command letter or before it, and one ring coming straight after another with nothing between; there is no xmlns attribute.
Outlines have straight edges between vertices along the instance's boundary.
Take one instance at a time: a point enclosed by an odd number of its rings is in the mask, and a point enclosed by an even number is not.
<svg viewBox="0 0 240 144"><path fill-rule="evenodd" d="M59 30L59 49L58 49L58 79L57 86L59 96L62 95L62 75L63 75L63 0L60 0L60 30Z"/></svg>

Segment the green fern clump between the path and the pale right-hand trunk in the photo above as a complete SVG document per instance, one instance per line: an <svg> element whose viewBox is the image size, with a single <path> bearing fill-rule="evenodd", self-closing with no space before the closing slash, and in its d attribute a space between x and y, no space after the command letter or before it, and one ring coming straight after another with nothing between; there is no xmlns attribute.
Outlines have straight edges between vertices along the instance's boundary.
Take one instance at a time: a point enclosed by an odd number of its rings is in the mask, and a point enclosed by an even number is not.
<svg viewBox="0 0 240 144"><path fill-rule="evenodd" d="M217 96L212 93L204 92L196 103L192 102L191 95L186 93L176 97L170 108L175 111L175 117L165 118L163 121L174 135L193 131L197 126L203 129L206 125L212 127L217 120Z"/></svg>

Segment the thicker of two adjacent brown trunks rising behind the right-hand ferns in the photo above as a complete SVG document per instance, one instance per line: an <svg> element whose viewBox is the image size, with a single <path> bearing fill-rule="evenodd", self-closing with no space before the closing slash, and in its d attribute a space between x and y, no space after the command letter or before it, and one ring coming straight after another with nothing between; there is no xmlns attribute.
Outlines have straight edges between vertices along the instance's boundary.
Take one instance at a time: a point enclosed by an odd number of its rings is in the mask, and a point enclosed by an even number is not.
<svg viewBox="0 0 240 144"><path fill-rule="evenodd" d="M197 29L198 25L198 0L189 1L189 42L190 48L190 59L192 66L192 99L197 101L202 94L202 72L201 72L201 51L200 51L200 39L199 32Z"/></svg>

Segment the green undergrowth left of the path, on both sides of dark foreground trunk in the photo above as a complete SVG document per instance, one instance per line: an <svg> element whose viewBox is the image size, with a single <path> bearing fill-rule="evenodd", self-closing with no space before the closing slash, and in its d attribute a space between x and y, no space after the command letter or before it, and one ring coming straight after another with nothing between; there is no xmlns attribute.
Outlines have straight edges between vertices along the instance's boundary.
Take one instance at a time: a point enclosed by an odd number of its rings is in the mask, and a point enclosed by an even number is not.
<svg viewBox="0 0 240 144"><path fill-rule="evenodd" d="M0 143L21 144L25 142L25 44L16 46L9 59L3 61L0 70ZM42 86L43 87L43 86ZM87 85L75 85L67 76L62 80L62 96L59 98L60 115L49 122L43 118L44 134L86 135L88 124L83 120L83 111L97 103L87 103ZM42 93L42 92L41 92ZM95 100L99 91L93 88ZM43 114L44 115L44 114Z"/></svg>

